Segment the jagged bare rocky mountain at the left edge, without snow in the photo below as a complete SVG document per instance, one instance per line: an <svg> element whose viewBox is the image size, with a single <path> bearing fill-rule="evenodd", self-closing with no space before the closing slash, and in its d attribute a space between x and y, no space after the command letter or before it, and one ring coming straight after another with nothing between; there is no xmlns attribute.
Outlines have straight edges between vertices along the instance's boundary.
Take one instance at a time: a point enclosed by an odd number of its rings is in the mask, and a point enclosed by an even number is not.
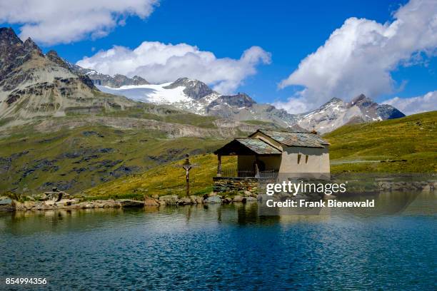
<svg viewBox="0 0 437 291"><path fill-rule="evenodd" d="M0 119L17 124L35 117L118 110L135 102L102 93L56 51L46 55L30 38L0 29Z"/></svg>

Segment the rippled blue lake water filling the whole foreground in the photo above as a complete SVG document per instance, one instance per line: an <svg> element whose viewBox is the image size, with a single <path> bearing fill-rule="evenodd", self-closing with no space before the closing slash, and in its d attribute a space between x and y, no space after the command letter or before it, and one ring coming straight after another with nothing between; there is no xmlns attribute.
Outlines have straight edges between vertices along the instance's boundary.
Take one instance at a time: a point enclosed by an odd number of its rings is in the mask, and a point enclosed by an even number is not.
<svg viewBox="0 0 437 291"><path fill-rule="evenodd" d="M437 290L437 196L375 199L280 218L256 203L1 213L0 289Z"/></svg>

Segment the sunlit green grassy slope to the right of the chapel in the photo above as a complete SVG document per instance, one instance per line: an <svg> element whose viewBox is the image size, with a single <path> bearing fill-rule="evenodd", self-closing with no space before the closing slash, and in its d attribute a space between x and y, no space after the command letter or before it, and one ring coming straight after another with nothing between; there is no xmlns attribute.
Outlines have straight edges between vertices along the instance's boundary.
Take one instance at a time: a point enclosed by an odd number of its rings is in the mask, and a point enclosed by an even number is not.
<svg viewBox="0 0 437 291"><path fill-rule="evenodd" d="M437 171L437 111L342 126L326 134L331 172Z"/></svg>

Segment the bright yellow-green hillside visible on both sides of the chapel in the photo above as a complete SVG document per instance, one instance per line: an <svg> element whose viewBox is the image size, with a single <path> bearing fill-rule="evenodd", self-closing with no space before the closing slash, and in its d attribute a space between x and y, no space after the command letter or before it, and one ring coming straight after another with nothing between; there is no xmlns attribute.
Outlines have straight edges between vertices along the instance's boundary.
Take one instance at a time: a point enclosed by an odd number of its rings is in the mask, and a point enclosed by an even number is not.
<svg viewBox="0 0 437 291"><path fill-rule="evenodd" d="M326 138L330 143L331 173L437 171L437 111L375 123L343 126ZM216 175L214 155L192 158L199 164L191 172L193 193L211 190ZM113 180L84 192L89 197L141 197L144 194L184 194L184 171L161 165L146 172ZM223 168L232 168L236 159L223 158Z"/></svg>

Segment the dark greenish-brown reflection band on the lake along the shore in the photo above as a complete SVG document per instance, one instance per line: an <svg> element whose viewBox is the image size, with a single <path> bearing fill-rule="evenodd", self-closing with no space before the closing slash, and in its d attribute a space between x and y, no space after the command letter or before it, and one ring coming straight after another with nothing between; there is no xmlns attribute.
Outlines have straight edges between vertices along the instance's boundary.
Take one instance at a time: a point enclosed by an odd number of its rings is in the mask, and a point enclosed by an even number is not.
<svg viewBox="0 0 437 291"><path fill-rule="evenodd" d="M0 213L0 229L14 235L39 232L75 232L105 228L109 224L129 227L135 217L152 220L159 225L171 218L172 224L186 225L273 225L276 223L321 222L331 218L376 218L385 215L435 215L437 194L378 193L346 197L338 200L375 200L374 208L322 208L317 215L258 215L258 203L229 205L146 206L140 209L94 208L83 210L46 210Z"/></svg>

